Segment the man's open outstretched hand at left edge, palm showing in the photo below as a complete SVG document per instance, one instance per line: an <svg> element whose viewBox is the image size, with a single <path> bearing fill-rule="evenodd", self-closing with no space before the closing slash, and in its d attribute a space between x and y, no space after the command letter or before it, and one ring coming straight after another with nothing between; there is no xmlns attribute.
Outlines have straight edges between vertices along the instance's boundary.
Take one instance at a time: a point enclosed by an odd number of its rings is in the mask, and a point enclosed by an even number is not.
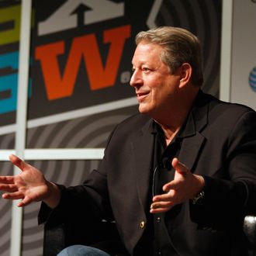
<svg viewBox="0 0 256 256"><path fill-rule="evenodd" d="M61 193L54 183L48 182L42 172L22 161L15 155L9 156L22 172L15 176L0 176L0 190L4 199L22 199L17 206L27 206L31 202L44 201L48 206L57 206Z"/></svg>

